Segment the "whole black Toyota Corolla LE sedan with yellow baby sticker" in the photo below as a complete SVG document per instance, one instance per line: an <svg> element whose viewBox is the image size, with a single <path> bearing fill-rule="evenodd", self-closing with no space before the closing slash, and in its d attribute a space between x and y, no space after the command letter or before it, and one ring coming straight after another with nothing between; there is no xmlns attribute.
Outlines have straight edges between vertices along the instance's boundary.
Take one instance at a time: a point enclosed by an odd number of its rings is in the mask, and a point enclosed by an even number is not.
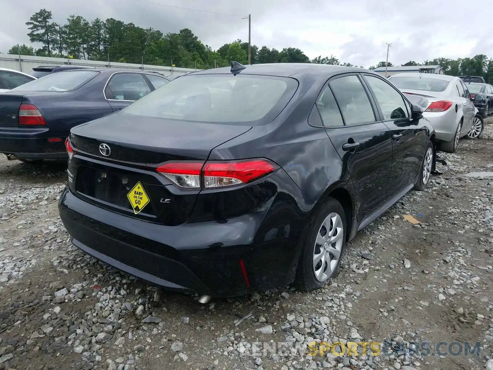
<svg viewBox="0 0 493 370"><path fill-rule="evenodd" d="M187 74L71 129L60 215L75 246L169 289L317 289L358 230L428 184L422 112L359 68Z"/></svg>

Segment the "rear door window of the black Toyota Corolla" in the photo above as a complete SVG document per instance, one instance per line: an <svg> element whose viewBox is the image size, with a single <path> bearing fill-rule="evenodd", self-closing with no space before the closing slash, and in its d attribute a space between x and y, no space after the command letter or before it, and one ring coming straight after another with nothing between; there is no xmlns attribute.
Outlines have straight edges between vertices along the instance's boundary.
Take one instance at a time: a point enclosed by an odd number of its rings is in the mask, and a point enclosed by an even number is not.
<svg viewBox="0 0 493 370"><path fill-rule="evenodd" d="M329 83L347 125L375 122L375 113L356 75L336 78Z"/></svg>

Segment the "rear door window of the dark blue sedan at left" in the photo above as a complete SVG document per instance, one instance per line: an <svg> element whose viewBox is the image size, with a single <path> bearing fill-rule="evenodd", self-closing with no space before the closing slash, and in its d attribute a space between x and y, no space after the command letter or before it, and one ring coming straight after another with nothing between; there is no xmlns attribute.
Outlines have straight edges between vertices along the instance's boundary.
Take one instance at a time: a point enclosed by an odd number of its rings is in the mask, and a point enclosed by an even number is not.
<svg viewBox="0 0 493 370"><path fill-rule="evenodd" d="M106 99L136 101L151 92L140 73L114 74L105 89Z"/></svg>

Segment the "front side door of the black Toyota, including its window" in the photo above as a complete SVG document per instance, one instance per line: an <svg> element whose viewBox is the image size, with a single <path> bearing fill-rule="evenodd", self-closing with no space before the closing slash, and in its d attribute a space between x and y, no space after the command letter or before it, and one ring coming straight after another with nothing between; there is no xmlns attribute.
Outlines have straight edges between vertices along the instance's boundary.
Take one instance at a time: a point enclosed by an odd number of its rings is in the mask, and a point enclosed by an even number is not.
<svg viewBox="0 0 493 370"><path fill-rule="evenodd" d="M411 119L410 103L385 79L372 74L364 74L364 79L392 133L392 170L387 183L387 197L391 198L415 183L427 145L426 130Z"/></svg>

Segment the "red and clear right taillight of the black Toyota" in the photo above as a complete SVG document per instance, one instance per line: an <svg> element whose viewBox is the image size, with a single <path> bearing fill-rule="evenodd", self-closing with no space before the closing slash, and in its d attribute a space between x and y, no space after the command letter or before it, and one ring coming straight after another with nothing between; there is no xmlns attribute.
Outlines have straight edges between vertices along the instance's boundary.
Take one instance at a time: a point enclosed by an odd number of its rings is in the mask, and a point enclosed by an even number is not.
<svg viewBox="0 0 493 370"><path fill-rule="evenodd" d="M267 159L239 161L168 162L156 169L176 186L210 189L242 185L274 172L279 167Z"/></svg>

